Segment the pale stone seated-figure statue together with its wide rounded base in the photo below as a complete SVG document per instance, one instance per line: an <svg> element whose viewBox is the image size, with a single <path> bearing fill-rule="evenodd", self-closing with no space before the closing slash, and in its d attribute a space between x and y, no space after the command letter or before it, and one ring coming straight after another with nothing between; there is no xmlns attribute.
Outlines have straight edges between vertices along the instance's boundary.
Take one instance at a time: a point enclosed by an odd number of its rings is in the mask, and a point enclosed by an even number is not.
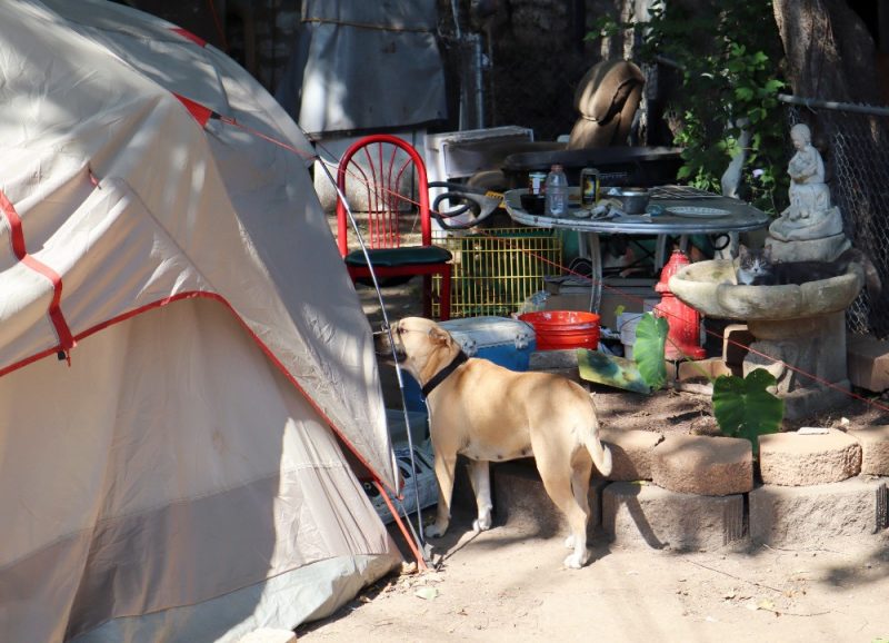
<svg viewBox="0 0 889 643"><path fill-rule="evenodd" d="M830 260L848 248L839 208L830 204L825 162L805 123L790 129L796 154L787 166L790 206L769 226L769 245L782 260ZM812 241L802 246L796 241ZM791 244L787 246L787 244Z"/></svg>

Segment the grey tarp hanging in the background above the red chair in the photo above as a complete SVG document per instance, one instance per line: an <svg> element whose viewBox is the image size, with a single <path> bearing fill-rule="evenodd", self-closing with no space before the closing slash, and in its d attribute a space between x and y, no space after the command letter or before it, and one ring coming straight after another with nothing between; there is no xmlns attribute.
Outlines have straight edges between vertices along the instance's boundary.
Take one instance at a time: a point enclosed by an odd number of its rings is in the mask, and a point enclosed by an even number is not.
<svg viewBox="0 0 889 643"><path fill-rule="evenodd" d="M436 0L304 0L276 98L310 135L447 116Z"/></svg>

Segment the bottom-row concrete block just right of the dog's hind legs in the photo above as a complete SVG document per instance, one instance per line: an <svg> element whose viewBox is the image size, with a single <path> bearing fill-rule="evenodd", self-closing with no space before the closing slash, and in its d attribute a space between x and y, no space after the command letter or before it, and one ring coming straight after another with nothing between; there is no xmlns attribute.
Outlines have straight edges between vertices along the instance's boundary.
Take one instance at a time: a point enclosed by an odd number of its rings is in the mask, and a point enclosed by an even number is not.
<svg viewBox="0 0 889 643"><path fill-rule="evenodd" d="M715 551L746 538L743 496L611 483L602 491L602 531L627 547Z"/></svg>

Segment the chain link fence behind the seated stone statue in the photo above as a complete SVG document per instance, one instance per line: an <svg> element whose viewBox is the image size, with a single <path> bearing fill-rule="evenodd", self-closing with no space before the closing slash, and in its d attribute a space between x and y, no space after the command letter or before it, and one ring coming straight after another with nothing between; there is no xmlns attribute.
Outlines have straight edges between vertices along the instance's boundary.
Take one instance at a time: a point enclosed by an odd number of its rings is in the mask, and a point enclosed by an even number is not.
<svg viewBox="0 0 889 643"><path fill-rule="evenodd" d="M843 231L880 276L882 294L867 289L846 314L855 334L889 337L889 109L782 97L790 125L805 122L822 152Z"/></svg>

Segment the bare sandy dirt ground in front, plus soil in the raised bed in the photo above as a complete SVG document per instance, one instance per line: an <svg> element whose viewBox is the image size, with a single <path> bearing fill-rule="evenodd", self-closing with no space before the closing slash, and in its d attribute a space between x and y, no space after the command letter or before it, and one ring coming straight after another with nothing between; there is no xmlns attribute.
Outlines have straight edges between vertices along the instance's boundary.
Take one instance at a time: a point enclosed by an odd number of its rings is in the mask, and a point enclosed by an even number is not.
<svg viewBox="0 0 889 643"><path fill-rule="evenodd" d="M362 297L373 320L371 295ZM410 290L403 295L387 300L392 320L414 311ZM715 426L705 395L597 389L595 399L605 426ZM880 408L856 402L799 424L887 423ZM299 641L889 643L886 533L818 550L695 553L625 548L598 538L592 562L572 571L561 566L563 534L512 523L473 534L473 507L455 511L449 533L430 541L431 571L406 566L333 616L301 626Z"/></svg>

